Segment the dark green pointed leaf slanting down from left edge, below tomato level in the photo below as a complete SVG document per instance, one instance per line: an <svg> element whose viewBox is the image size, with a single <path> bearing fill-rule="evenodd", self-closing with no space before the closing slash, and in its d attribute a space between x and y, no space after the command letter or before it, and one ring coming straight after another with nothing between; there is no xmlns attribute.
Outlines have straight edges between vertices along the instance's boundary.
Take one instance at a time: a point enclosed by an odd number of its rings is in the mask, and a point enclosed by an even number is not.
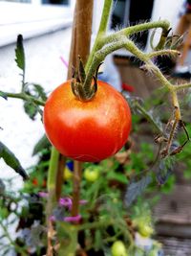
<svg viewBox="0 0 191 256"><path fill-rule="evenodd" d="M0 142L0 158L1 157L4 159L6 164L9 165L17 174L21 175L23 179L27 179L29 177L13 152L11 152L2 142Z"/></svg>

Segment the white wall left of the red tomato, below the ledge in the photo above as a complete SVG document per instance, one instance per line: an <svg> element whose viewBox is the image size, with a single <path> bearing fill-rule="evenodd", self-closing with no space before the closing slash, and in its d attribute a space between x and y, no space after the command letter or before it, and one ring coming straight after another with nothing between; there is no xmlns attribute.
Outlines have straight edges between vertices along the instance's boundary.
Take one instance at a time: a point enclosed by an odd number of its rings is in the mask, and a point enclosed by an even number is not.
<svg viewBox="0 0 191 256"><path fill-rule="evenodd" d="M43 35L24 42L26 52L26 81L37 82L50 92L66 80L67 68L60 57L69 57L71 29L52 35ZM14 61L14 45L0 48L0 90L19 92L20 70ZM22 101L0 98L0 141L5 143L20 159L25 168L35 163L32 148L44 133L38 118L32 122L23 111ZM0 177L15 176L15 173L0 160ZM17 176L17 175L16 175ZM15 179L15 188L21 185ZM14 188L14 189L15 189Z"/></svg>

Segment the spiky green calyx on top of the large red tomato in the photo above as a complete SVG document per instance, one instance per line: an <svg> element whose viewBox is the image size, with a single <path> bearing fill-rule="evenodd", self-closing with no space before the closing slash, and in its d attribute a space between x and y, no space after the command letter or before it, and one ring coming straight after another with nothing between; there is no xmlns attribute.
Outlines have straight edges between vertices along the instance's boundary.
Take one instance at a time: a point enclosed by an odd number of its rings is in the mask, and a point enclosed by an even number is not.
<svg viewBox="0 0 191 256"><path fill-rule="evenodd" d="M84 65L81 58L79 56L78 58L79 58L78 68L77 68L77 71L74 70L73 79L71 81L71 87L72 87L74 96L78 100L82 102L88 102L88 101L91 101L96 96L98 68L96 69L96 75L93 76L94 83L90 84L89 86L84 86L86 81L86 72L85 72Z"/></svg>

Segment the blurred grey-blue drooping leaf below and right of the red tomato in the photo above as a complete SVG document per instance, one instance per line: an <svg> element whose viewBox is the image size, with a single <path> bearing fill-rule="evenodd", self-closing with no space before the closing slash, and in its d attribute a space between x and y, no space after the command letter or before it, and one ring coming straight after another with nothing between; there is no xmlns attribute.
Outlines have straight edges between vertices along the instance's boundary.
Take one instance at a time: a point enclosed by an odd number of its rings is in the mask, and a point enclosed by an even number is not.
<svg viewBox="0 0 191 256"><path fill-rule="evenodd" d="M128 188L127 192L125 194L125 204L127 206L130 206L132 202L138 198L139 195L146 189L146 187L151 183L152 178L151 175L143 176L140 180L137 182L132 182Z"/></svg>

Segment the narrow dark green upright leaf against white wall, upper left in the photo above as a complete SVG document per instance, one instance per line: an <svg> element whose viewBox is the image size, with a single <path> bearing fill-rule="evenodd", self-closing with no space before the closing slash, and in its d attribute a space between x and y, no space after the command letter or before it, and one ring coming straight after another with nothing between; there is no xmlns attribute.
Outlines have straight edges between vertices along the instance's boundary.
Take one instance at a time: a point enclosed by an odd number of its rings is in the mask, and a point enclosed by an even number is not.
<svg viewBox="0 0 191 256"><path fill-rule="evenodd" d="M23 35L17 36L16 49L15 49L15 61L17 66L22 69L23 75L25 73L25 51L23 47Z"/></svg>

